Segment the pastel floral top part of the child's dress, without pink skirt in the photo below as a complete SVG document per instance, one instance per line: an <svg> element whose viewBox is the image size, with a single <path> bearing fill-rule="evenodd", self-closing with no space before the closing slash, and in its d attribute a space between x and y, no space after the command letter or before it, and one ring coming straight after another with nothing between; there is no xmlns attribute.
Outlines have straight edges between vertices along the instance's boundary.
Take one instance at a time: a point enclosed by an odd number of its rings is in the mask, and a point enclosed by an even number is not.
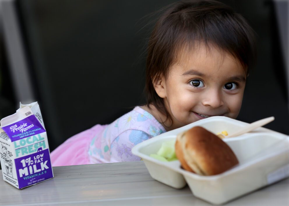
<svg viewBox="0 0 289 206"><path fill-rule="evenodd" d="M137 161L131 148L165 132L163 126L140 107L121 116L91 141L88 152L91 163Z"/></svg>

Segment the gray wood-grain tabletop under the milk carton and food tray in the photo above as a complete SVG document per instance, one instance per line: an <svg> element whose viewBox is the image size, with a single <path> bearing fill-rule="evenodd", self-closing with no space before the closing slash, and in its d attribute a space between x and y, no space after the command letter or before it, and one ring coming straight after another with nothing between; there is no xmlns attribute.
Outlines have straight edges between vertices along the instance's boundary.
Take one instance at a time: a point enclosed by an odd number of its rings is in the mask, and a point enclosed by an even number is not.
<svg viewBox="0 0 289 206"><path fill-rule="evenodd" d="M17 189L0 170L0 205L211 205L186 186L155 181L143 161L54 167L54 178ZM226 205L289 205L289 179Z"/></svg>

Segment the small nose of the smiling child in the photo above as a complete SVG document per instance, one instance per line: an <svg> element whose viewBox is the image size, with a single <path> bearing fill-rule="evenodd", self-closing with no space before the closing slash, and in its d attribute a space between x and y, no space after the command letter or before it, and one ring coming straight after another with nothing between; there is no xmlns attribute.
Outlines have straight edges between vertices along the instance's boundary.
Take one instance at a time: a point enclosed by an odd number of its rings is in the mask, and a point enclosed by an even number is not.
<svg viewBox="0 0 289 206"><path fill-rule="evenodd" d="M216 89L208 90L202 100L202 104L213 108L218 108L224 105L221 92Z"/></svg>

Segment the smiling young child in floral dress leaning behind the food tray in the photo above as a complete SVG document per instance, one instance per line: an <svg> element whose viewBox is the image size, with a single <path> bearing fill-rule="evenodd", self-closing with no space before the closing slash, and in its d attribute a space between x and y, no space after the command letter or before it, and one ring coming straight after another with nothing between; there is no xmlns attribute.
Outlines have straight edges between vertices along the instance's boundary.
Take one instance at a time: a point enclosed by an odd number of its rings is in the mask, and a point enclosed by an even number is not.
<svg viewBox="0 0 289 206"><path fill-rule="evenodd" d="M211 116L236 118L255 58L254 31L217 1L165 8L148 42L147 104L77 134L51 153L53 166L137 161L131 148Z"/></svg>

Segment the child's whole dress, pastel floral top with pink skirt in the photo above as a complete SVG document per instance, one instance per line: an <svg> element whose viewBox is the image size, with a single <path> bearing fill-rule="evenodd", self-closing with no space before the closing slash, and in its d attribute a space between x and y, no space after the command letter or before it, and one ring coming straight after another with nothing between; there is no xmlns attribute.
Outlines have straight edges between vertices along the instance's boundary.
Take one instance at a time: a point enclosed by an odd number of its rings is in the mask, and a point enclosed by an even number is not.
<svg viewBox="0 0 289 206"><path fill-rule="evenodd" d="M138 161L131 148L163 132L154 116L136 106L109 125L95 125L67 139L50 153L52 166Z"/></svg>

